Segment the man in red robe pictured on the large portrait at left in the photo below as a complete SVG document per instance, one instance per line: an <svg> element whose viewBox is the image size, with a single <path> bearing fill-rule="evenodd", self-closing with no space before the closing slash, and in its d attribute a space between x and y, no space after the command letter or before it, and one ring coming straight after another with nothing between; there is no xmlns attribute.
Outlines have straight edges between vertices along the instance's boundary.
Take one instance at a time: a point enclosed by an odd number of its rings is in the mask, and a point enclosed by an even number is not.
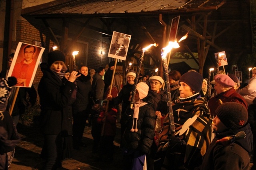
<svg viewBox="0 0 256 170"><path fill-rule="evenodd" d="M27 45L24 48L23 59L20 63L16 63L12 71L12 76L17 78L17 84L15 86L29 86L36 61L34 54L36 47L33 45Z"/></svg>

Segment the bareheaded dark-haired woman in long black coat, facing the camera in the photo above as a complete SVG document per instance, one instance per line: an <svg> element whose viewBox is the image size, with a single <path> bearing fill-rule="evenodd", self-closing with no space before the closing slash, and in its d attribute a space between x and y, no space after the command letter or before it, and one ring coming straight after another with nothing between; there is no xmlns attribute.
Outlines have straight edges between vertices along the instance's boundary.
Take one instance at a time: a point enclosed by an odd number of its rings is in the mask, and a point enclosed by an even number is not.
<svg viewBox="0 0 256 170"><path fill-rule="evenodd" d="M91 77L88 75L88 67L85 65L80 66L79 72L81 76L77 80L76 100L72 105L74 149L86 146L82 143L82 136L86 120L92 108L89 102L89 92L92 89L92 85L90 82Z"/></svg>

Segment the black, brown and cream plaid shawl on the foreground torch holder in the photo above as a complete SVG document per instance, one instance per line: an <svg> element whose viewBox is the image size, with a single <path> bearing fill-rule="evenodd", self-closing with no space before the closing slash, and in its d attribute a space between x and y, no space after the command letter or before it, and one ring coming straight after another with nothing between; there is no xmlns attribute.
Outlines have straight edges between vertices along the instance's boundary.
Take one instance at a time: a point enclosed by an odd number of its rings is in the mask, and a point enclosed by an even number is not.
<svg viewBox="0 0 256 170"><path fill-rule="evenodd" d="M180 136L186 142L186 153L184 164L191 167L202 161L202 156L210 146L212 133L212 119L207 106L206 98L196 98L189 101L174 101L173 114L176 131L181 129L188 118L198 115L196 121L190 125L186 133ZM164 127L159 135L160 142L158 152L168 149L168 135L170 134L170 123L168 116L165 117ZM199 162L198 162L199 161ZM171 162L170 162L171 163Z"/></svg>

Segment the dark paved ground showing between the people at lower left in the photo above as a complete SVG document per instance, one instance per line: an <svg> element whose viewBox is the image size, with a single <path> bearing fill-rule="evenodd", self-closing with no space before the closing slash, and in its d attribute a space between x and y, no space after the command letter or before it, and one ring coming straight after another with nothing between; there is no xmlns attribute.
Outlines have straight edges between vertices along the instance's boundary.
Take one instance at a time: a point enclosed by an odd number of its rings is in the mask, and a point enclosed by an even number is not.
<svg viewBox="0 0 256 170"><path fill-rule="evenodd" d="M14 159L9 170L40 170L43 162L40 158L40 152L43 146L43 136L39 131L37 124L22 125L18 123L17 130L22 141L16 147ZM62 168L59 170L120 170L122 161L122 150L120 146L120 129L114 141L115 152L114 162L106 162L98 158L98 154L92 154L92 136L91 128L86 126L82 141L87 147L81 147L81 150L73 150L73 157L65 159L62 162Z"/></svg>

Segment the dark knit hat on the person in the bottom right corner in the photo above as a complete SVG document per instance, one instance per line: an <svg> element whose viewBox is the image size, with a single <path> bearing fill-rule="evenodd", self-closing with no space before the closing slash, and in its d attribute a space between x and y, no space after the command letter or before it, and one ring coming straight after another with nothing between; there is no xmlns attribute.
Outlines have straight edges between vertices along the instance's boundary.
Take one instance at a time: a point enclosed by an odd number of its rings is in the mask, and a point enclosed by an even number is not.
<svg viewBox="0 0 256 170"><path fill-rule="evenodd" d="M248 120L247 109L236 102L226 102L216 109L216 115L229 129L236 130L242 127Z"/></svg>

